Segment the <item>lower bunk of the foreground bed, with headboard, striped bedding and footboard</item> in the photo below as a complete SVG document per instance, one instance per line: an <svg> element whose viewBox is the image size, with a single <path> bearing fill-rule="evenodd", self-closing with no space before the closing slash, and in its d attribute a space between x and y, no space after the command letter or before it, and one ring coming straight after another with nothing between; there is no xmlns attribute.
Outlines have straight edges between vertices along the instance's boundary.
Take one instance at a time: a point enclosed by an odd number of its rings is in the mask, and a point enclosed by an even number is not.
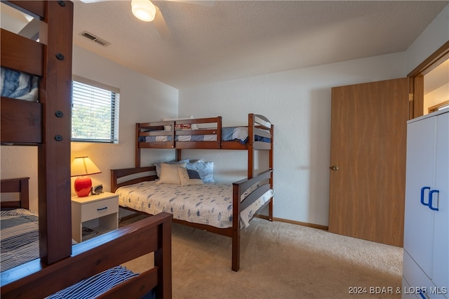
<svg viewBox="0 0 449 299"><path fill-rule="evenodd" d="M149 293L151 298L171 297L170 242L173 215L160 213L156 217L75 244L70 258L53 265L43 265L39 260L38 216L27 209L28 180L1 180L2 194L18 193L18 199L1 201L2 298L44 298L48 295L50 298L65 298L62 292L69 293L72 296L69 298L84 298L83 295L75 295L76 291L86 292L93 288L93 284L99 286L105 281L107 288L110 288L105 296L124 298L123 294L133 294L140 298ZM20 241L21 237L25 237L26 240L22 240L26 242ZM153 252L154 265L148 265L149 270L141 274L130 272L119 265ZM121 283L123 278L127 279L126 285L111 288L111 285Z"/></svg>

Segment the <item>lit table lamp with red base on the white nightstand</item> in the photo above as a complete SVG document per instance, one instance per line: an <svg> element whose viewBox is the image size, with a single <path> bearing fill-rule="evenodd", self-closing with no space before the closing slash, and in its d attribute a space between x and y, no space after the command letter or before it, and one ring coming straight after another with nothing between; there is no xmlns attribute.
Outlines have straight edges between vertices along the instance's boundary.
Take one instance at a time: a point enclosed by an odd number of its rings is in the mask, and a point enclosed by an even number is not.
<svg viewBox="0 0 449 299"><path fill-rule="evenodd" d="M78 177L74 182L76 195L78 197L86 197L91 192L92 180L85 175L93 175L101 173L101 171L89 157L76 157L72 161L71 173L72 177Z"/></svg>

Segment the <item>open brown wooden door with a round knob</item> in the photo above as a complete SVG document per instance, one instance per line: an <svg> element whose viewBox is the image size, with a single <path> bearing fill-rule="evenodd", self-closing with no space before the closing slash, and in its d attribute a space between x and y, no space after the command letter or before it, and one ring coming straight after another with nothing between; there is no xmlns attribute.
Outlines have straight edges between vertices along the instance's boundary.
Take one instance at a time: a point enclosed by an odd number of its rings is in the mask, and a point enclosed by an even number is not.
<svg viewBox="0 0 449 299"><path fill-rule="evenodd" d="M408 79L332 89L329 231L403 245Z"/></svg>

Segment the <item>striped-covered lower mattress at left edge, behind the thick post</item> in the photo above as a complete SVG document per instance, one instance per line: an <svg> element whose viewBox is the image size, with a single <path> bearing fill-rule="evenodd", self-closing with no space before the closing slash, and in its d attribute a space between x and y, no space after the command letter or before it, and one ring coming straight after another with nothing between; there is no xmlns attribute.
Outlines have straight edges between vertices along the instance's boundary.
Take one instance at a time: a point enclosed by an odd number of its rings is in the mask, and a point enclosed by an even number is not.
<svg viewBox="0 0 449 299"><path fill-rule="evenodd" d="M0 272L39 258L37 213L23 208L1 211Z"/></svg>

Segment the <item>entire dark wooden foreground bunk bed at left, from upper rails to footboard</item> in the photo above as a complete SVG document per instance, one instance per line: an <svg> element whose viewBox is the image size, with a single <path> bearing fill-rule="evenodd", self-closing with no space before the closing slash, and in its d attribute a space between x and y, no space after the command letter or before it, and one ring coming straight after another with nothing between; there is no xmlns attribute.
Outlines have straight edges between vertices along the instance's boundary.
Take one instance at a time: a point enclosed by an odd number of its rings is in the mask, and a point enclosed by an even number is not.
<svg viewBox="0 0 449 299"><path fill-rule="evenodd" d="M44 298L61 290L79 291L79 284L107 277L116 267L147 253L154 266L132 274L103 297L140 298L154 292L171 298L171 218L155 215L72 246L71 238L71 86L73 3L71 1L1 1L41 20L39 42L1 29L2 146L37 147L39 255L1 272L1 298ZM5 92L6 73L29 77L29 94ZM25 76L22 76L24 74ZM4 81L5 80L5 81ZM21 79L20 79L21 80ZM22 86L22 84L19 84ZM37 95L37 96L34 96ZM24 182L26 181L26 182ZM2 180L2 192L19 192L18 204L29 208L27 180ZM123 269L122 269L123 270ZM109 281L109 280L108 280ZM74 285L76 284L76 285Z"/></svg>

